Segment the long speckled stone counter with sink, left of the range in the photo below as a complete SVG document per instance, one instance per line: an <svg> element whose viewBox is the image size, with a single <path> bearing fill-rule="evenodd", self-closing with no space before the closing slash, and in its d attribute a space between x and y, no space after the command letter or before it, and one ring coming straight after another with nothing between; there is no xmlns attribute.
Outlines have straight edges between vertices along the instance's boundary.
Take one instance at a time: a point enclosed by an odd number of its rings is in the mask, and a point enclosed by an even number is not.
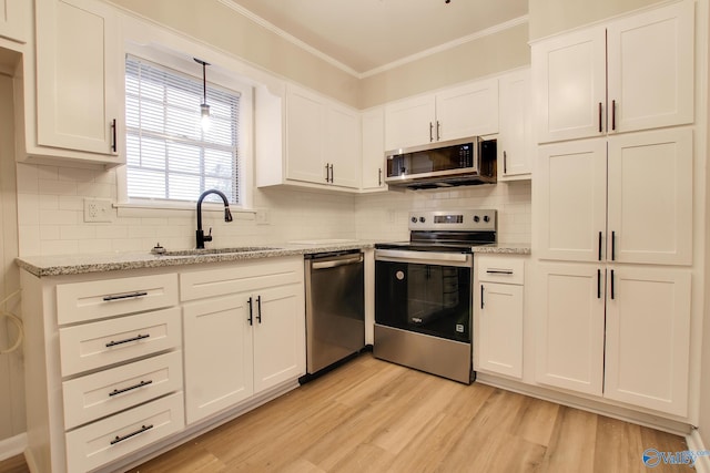
<svg viewBox="0 0 710 473"><path fill-rule="evenodd" d="M374 248L373 241L313 240L270 245L268 247L233 247L207 249L204 254L193 250L169 251L164 255L144 253L110 253L95 255L28 256L17 258L17 265L37 277L81 275L87 273L122 271L141 268L196 265L203 263L239 261L254 258L308 255Z"/></svg>

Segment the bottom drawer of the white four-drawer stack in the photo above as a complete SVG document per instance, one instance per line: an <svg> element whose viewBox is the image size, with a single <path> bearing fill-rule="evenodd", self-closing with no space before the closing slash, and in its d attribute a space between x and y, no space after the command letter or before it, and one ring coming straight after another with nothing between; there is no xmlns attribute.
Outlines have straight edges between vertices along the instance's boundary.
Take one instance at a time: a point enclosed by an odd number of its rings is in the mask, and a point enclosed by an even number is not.
<svg viewBox="0 0 710 473"><path fill-rule="evenodd" d="M67 433L67 471L105 465L184 428L182 392Z"/></svg>

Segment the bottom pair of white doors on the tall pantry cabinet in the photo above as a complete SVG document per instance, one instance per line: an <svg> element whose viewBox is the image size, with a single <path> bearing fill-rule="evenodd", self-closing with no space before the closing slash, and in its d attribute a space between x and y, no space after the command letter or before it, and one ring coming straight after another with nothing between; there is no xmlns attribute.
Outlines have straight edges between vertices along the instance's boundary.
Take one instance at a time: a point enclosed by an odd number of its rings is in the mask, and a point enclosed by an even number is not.
<svg viewBox="0 0 710 473"><path fill-rule="evenodd" d="M689 269L538 268L537 382L688 415Z"/></svg>

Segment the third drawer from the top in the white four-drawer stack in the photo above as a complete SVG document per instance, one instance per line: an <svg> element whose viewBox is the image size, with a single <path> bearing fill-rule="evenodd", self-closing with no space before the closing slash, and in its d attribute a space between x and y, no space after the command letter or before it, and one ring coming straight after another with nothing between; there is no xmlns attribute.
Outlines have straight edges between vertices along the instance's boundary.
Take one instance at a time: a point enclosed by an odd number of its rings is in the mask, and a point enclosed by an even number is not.
<svg viewBox="0 0 710 473"><path fill-rule="evenodd" d="M182 390L182 352L173 351L63 383L67 430Z"/></svg>

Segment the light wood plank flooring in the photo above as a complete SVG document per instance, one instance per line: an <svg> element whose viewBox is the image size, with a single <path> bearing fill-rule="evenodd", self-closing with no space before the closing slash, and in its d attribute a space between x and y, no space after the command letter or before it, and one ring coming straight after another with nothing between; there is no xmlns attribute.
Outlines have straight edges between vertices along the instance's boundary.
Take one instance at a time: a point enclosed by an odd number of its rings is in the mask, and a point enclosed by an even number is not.
<svg viewBox="0 0 710 473"><path fill-rule="evenodd" d="M677 435L364 354L130 472L627 473L649 471L648 448L687 450Z"/></svg>

